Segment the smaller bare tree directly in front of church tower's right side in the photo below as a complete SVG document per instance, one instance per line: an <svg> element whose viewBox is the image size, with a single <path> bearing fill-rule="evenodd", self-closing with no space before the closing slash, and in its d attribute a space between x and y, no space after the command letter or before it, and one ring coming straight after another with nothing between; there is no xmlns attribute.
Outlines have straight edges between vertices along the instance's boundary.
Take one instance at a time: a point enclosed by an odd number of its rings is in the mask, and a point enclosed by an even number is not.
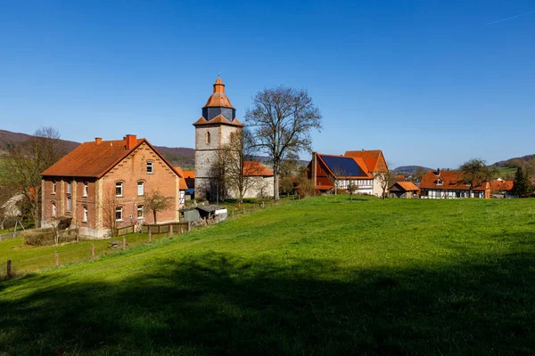
<svg viewBox="0 0 535 356"><path fill-rule="evenodd" d="M231 134L230 142L223 146L218 157L225 187L237 194L238 206L242 206L245 193L257 183L255 178L261 171L261 166L253 161L256 148L251 139L248 130Z"/></svg>

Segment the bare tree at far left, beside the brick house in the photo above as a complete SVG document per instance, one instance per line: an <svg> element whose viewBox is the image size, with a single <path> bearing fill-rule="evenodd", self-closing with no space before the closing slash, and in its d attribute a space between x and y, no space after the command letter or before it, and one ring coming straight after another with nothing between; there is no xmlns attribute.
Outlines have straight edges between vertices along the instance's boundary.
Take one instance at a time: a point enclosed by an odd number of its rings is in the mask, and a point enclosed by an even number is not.
<svg viewBox="0 0 535 356"><path fill-rule="evenodd" d="M28 141L15 145L4 157L0 181L13 195L24 195L36 227L41 223L40 174L66 153L60 132L53 127L41 127Z"/></svg>

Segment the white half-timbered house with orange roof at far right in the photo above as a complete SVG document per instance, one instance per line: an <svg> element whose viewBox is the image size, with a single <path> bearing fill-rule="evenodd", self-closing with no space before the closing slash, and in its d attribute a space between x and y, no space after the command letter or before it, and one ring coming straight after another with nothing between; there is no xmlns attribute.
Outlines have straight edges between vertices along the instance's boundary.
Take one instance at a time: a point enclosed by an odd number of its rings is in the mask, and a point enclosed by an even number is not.
<svg viewBox="0 0 535 356"><path fill-rule="evenodd" d="M490 198L490 183L482 182L472 188L463 180L460 171L429 171L420 182L420 198L453 199L453 198Z"/></svg>

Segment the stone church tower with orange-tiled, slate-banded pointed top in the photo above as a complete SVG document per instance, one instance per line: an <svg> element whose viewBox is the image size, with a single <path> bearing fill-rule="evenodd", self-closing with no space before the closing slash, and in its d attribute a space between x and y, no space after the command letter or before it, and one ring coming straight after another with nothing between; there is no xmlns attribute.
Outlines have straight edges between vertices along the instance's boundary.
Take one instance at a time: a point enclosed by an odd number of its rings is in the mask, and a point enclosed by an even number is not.
<svg viewBox="0 0 535 356"><path fill-rule="evenodd" d="M225 93L220 77L213 93L202 107L202 117L195 126L195 198L216 200L217 179L213 166L221 149L230 141L232 133L241 132L243 124L236 118L236 109ZM223 198L223 197L219 197Z"/></svg>

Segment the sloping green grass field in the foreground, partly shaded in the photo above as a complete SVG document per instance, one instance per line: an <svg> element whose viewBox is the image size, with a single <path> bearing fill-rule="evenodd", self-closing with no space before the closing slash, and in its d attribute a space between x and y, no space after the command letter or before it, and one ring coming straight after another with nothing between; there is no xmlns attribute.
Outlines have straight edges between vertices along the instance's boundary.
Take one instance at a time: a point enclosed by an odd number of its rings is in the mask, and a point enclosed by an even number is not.
<svg viewBox="0 0 535 356"><path fill-rule="evenodd" d="M0 283L5 354L533 354L535 200L347 196Z"/></svg>

